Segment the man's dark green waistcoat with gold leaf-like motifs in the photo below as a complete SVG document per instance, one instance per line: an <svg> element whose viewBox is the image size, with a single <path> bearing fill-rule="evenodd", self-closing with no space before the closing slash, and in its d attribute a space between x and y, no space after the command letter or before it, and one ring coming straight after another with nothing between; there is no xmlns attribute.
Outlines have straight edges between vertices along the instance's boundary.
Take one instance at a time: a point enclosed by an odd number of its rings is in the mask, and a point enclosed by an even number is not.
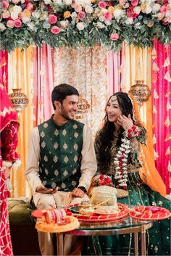
<svg viewBox="0 0 171 256"><path fill-rule="evenodd" d="M43 186L72 191L80 178L83 123L70 120L59 126L53 118L38 125L40 136L39 175Z"/></svg>

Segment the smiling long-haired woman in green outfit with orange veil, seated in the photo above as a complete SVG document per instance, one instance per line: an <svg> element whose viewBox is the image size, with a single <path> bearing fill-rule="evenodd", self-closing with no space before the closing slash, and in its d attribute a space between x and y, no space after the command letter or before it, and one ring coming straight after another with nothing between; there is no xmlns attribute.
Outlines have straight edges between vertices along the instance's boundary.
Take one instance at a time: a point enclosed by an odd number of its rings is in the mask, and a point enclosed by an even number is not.
<svg viewBox="0 0 171 256"><path fill-rule="evenodd" d="M130 206L157 205L168 209L170 202L161 196L165 191L162 178L151 163L149 170L152 177L146 171L149 160L144 162L143 158L149 154L145 144L146 129L138 116L135 99L122 92L114 94L107 102L104 125L96 133L98 169L93 184L98 185L99 175L105 174L117 188L117 202ZM155 221L147 236L148 255L170 255L169 220ZM130 255L132 247L131 235L99 236L93 240L94 252L90 249L86 254Z"/></svg>

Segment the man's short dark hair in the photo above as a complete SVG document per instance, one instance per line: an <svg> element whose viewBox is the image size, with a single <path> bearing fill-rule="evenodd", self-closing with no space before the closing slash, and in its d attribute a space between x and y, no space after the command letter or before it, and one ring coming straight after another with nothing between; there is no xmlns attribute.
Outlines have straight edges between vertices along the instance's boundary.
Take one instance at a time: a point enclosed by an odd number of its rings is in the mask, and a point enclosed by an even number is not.
<svg viewBox="0 0 171 256"><path fill-rule="evenodd" d="M51 92L51 102L54 107L54 110L55 110L54 101L59 101L62 103L63 100L69 95L79 96L78 90L67 83L61 83L59 84L59 86L55 86L53 91Z"/></svg>

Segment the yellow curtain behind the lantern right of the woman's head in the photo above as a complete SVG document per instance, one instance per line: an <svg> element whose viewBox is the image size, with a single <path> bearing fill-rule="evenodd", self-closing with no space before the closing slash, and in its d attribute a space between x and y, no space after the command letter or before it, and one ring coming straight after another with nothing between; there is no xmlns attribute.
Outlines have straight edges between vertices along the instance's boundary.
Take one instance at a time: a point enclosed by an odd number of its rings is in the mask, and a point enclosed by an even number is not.
<svg viewBox="0 0 171 256"><path fill-rule="evenodd" d="M151 90L151 48L140 49L125 45L123 65L125 68L122 74L122 91L128 92L135 80L144 80L144 84ZM140 107L140 112L141 120L146 123L149 151L154 158L151 97Z"/></svg>

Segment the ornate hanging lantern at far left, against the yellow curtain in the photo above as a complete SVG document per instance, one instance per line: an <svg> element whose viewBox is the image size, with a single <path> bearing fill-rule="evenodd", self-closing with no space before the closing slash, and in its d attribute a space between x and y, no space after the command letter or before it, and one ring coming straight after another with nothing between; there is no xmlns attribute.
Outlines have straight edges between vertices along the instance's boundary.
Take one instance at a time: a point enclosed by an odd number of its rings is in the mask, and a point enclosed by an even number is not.
<svg viewBox="0 0 171 256"><path fill-rule="evenodd" d="M21 90L21 88L14 88L12 94L9 94L9 99L16 111L24 110L28 106L28 97Z"/></svg>

